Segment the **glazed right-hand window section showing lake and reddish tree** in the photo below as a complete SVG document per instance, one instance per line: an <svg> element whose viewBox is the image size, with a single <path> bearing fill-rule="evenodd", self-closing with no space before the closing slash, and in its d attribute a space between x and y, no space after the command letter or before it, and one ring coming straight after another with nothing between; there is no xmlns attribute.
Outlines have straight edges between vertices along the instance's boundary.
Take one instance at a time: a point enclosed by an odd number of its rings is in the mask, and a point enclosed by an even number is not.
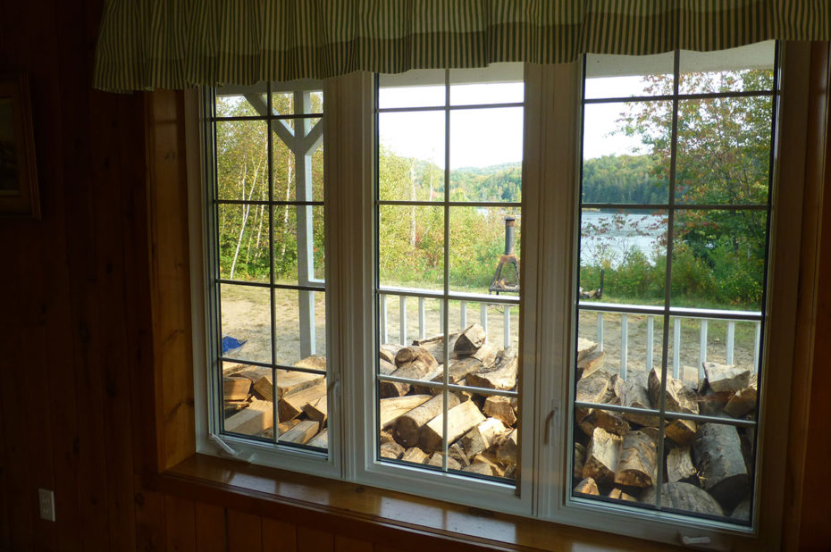
<svg viewBox="0 0 831 552"><path fill-rule="evenodd" d="M751 521L774 59L586 59L574 497Z"/></svg>

